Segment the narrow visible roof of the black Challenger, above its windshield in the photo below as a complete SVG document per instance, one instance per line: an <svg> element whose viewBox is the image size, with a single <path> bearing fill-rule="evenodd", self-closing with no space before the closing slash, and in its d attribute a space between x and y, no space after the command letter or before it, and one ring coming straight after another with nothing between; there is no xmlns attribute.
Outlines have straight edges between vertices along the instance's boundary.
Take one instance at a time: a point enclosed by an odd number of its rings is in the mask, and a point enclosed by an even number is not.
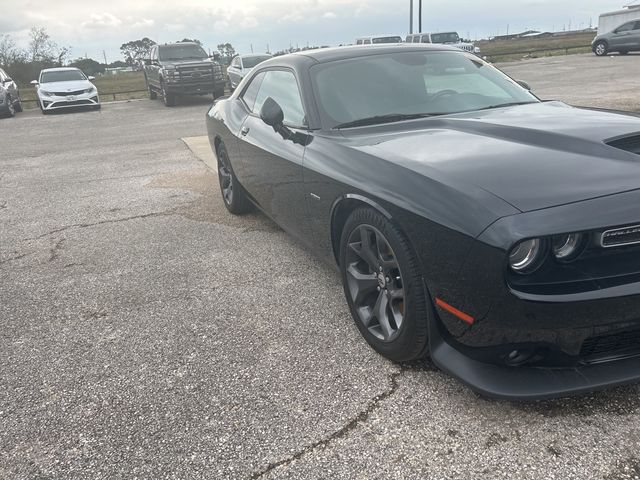
<svg viewBox="0 0 640 480"><path fill-rule="evenodd" d="M369 55L385 55L389 53L406 53L420 51L451 51L461 52L459 48L431 43L380 43L373 45L349 45L346 47L320 48L292 53L292 56L305 56L317 63L334 62L349 58L366 57Z"/></svg>

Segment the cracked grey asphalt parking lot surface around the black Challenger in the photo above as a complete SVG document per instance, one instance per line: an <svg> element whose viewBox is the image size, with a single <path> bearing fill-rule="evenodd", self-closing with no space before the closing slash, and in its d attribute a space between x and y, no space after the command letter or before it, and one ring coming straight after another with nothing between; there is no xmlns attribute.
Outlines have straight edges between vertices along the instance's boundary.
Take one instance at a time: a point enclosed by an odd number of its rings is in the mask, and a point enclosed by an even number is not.
<svg viewBox="0 0 640 480"><path fill-rule="evenodd" d="M330 266L226 212L206 110L0 120L0 478L640 478L637 386L496 402L370 350Z"/></svg>

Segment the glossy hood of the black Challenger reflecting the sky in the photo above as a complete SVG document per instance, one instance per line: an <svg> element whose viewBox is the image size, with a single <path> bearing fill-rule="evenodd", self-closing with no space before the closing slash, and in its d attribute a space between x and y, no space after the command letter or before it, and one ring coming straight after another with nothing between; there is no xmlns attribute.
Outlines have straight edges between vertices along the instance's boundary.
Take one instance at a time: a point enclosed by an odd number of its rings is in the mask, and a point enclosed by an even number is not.
<svg viewBox="0 0 640 480"><path fill-rule="evenodd" d="M605 143L640 136L633 115L549 102L342 134L350 148L523 212L640 188L640 155Z"/></svg>

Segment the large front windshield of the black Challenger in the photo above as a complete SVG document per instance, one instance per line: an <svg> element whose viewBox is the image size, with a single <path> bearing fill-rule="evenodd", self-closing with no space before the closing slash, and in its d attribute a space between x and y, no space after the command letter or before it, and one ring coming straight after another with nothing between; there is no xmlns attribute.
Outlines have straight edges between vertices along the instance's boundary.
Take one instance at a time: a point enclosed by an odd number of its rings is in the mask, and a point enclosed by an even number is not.
<svg viewBox="0 0 640 480"><path fill-rule="evenodd" d="M539 101L496 68L462 52L369 55L310 71L328 128L372 117L445 115Z"/></svg>

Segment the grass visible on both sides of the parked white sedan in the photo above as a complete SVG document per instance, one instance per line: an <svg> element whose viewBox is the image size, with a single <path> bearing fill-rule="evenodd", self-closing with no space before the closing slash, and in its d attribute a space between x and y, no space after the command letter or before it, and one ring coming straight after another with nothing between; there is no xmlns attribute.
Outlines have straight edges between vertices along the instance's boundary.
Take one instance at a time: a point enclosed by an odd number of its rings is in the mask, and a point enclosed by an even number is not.
<svg viewBox="0 0 640 480"><path fill-rule="evenodd" d="M142 72L101 75L100 77L96 77L93 84L98 89L100 100L103 102L147 98L147 87L144 81L144 73ZM32 85L20 85L20 97L22 97L25 109L37 108L35 102L36 89Z"/></svg>

